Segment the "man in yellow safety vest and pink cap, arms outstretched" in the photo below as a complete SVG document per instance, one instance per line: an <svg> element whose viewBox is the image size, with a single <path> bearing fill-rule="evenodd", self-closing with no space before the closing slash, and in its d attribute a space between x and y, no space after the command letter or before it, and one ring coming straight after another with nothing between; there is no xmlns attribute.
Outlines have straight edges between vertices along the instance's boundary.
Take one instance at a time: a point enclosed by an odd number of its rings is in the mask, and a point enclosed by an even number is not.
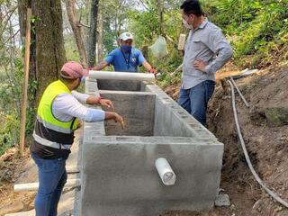
<svg viewBox="0 0 288 216"><path fill-rule="evenodd" d="M58 201L67 181L66 159L74 141L78 120L114 120L124 127L116 112L87 108L82 103L99 104L113 109L113 103L102 97L77 93L81 79L87 76L77 62L67 62L58 81L44 91L37 111L31 157L38 166L39 190L35 198L36 216L56 216Z"/></svg>

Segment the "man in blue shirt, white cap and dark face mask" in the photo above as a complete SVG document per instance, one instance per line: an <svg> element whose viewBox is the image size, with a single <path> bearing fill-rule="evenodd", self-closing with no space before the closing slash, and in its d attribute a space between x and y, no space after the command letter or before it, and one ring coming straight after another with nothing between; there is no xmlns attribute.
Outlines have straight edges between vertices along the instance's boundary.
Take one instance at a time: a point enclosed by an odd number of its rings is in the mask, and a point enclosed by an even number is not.
<svg viewBox="0 0 288 216"><path fill-rule="evenodd" d="M124 32L120 37L121 46L112 50L108 56L97 66L90 69L102 70L103 67L112 65L114 71L138 72L138 66L144 66L149 73L156 74L157 71L144 58L139 49L133 48L133 36L130 32Z"/></svg>

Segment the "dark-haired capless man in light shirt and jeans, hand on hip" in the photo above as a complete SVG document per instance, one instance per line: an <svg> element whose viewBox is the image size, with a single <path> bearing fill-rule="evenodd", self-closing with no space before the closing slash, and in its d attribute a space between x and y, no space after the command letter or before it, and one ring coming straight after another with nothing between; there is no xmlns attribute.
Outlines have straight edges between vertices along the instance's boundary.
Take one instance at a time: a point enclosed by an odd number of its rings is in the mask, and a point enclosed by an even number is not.
<svg viewBox="0 0 288 216"><path fill-rule="evenodd" d="M229 61L233 50L220 28L204 16L198 0L185 0L181 9L183 23L190 32L184 47L178 103L205 125L207 103L215 88L215 72Z"/></svg>

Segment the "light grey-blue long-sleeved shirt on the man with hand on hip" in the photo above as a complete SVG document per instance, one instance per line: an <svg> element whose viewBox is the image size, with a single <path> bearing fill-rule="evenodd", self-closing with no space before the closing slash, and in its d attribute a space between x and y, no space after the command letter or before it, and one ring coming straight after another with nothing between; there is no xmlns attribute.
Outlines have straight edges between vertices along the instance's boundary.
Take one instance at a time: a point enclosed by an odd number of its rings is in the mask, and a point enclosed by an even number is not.
<svg viewBox="0 0 288 216"><path fill-rule="evenodd" d="M205 19L198 29L189 32L185 42L182 87L189 89L205 80L215 81L215 72L224 66L232 55L233 50L220 28ZM196 59L208 64L205 72L193 67Z"/></svg>

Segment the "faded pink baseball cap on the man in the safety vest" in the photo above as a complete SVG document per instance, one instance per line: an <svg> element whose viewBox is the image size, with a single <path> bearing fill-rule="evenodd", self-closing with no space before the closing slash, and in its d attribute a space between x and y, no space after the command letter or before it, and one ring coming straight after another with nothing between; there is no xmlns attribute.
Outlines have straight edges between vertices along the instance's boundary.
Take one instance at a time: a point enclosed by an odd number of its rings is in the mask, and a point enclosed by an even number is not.
<svg viewBox="0 0 288 216"><path fill-rule="evenodd" d="M61 68L61 72L65 72L67 76L71 78L81 78L82 76L88 76L88 70L84 69L82 65L76 61L68 61Z"/></svg>

